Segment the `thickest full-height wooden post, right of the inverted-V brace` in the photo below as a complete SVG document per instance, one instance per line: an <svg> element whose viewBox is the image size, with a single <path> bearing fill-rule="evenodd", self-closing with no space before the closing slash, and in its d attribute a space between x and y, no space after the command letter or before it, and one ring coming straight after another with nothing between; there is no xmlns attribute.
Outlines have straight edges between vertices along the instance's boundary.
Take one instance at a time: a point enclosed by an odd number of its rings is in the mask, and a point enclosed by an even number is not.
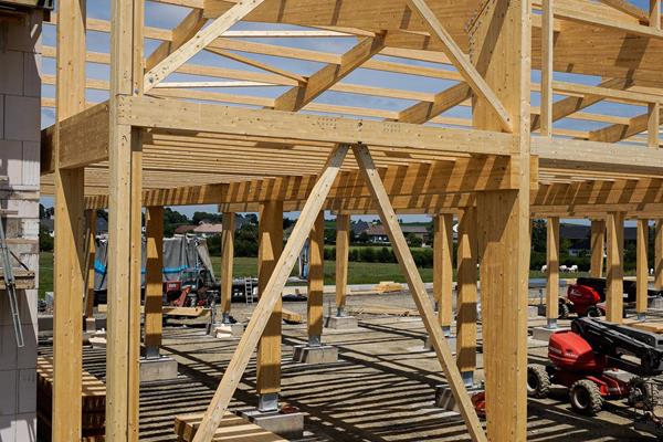
<svg viewBox="0 0 663 442"><path fill-rule="evenodd" d="M529 278L529 94L532 11L528 1L484 3L473 23L471 56L504 104L514 141L512 190L477 193L483 350L488 439L527 438L527 298ZM492 106L473 101L477 129L503 128ZM504 351L508 348L508 351Z"/></svg>

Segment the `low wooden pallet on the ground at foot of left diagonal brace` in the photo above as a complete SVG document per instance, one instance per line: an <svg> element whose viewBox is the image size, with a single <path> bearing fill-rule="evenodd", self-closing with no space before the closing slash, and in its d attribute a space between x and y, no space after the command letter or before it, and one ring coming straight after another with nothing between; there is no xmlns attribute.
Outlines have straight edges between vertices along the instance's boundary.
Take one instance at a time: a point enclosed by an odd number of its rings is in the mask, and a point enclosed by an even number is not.
<svg viewBox="0 0 663 442"><path fill-rule="evenodd" d="M177 415L175 418L175 433L178 442L190 442L202 421L202 413ZM223 414L221 424L214 432L213 442L285 442L283 439L267 430L249 422L246 419L229 411Z"/></svg>

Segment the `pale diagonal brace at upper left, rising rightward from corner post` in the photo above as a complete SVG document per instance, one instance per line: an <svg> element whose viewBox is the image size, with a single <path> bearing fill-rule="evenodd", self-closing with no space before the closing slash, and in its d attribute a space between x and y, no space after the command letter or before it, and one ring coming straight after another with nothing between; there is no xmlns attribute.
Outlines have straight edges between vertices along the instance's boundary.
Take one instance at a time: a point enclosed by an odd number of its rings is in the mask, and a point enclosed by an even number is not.
<svg viewBox="0 0 663 442"><path fill-rule="evenodd" d="M261 6L264 0L241 0L228 12L214 19L207 28L199 30L186 43L172 51L166 59L161 60L145 74L144 92L149 92L170 73L185 64L193 55L202 51L230 27L242 20L248 13Z"/></svg>

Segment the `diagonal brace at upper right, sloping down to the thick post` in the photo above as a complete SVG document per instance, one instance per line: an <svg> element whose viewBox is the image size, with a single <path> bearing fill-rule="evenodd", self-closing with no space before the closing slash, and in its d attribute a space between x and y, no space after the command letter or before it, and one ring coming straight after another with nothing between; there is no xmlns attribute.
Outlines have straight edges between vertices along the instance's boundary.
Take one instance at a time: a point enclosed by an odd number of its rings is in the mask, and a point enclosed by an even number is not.
<svg viewBox="0 0 663 442"><path fill-rule="evenodd" d="M453 65L459 70L465 82L472 87L472 91L485 99L491 105L495 115L499 119L502 128L507 131L513 131L513 123L504 105L497 98L493 90L486 84L485 80L472 65L467 56L454 42L453 36L444 29L434 12L429 8L425 0L408 0L410 9L418 13L424 21L431 32L431 36L436 38L442 43L442 51L451 60Z"/></svg>

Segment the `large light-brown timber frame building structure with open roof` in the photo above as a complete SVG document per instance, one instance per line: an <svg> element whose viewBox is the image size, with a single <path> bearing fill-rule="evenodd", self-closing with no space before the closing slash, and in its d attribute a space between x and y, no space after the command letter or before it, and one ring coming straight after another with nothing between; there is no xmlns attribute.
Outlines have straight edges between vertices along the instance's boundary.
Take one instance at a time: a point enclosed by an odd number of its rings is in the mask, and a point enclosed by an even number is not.
<svg viewBox="0 0 663 442"><path fill-rule="evenodd" d="M526 439L530 219L551 221L552 282L559 264L555 246L559 218L596 220L592 244L598 257L592 272L602 272L607 242L608 316L613 320L622 317L621 227L624 219L640 220L638 275L644 294L639 313L645 312L648 220L663 218L660 0L652 0L646 11L621 0L150 1L187 8L188 13L170 30L144 25L144 0L112 0L109 21L86 18L85 0L61 0L51 18L57 44L44 48L44 56L56 59L56 75L43 77L44 84L55 85L55 98L44 98L43 105L56 109L56 124L42 137L42 191L54 194L56 209L55 442L81 438L80 403L71 399L81 390L81 294L88 271L85 212L97 208L109 210L106 434L112 442L138 439L141 208L148 208L147 234L152 239L161 236L165 206L219 204L229 214L224 223L230 229L227 218L233 212L261 212L261 301L198 429L197 442L211 440L256 347L259 393L280 391L280 295L323 210L339 214L343 244L349 215L378 213L382 219L476 441ZM281 28L232 30L240 21ZM109 53L86 51L88 32L109 33ZM340 39L351 44L338 54L255 42L261 38ZM146 40L159 42L149 55L144 54ZM194 57L202 51L251 69L197 64ZM259 61L255 54L314 62L319 69L302 75ZM108 81L86 77L86 63L109 65ZM355 70L388 72L400 76L402 84L427 77L451 86L422 93L354 84L347 77ZM539 84L532 82L533 71L540 71ZM600 81L561 82L554 72ZM172 74L197 80L169 81ZM231 87L284 92L275 98L219 92ZM87 103L88 90L108 91L108 99ZM332 105L319 99L328 92L409 105L398 112ZM540 106L530 105L533 96L540 96ZM642 110L623 117L589 109L601 102ZM448 116L456 108L470 108L472 117ZM566 118L592 122L599 128L554 127ZM301 215L281 250L283 211ZM439 315L397 213L435 218ZM478 262L486 294L485 431L461 373L475 368L475 312L466 308L476 303L473 272L464 271L459 281L457 361L443 336L451 323L454 214L463 227L459 267L472 270ZM659 285L663 283L660 225L657 221ZM224 244L223 265L232 269L232 234L224 235ZM148 245L151 276L146 305L152 307L146 308L145 320L146 346L156 347L159 250ZM344 254L347 245L339 256ZM347 262L345 269L343 262L337 266L341 309ZM230 280L223 281L227 293ZM549 305L556 305L555 291L548 296ZM309 306L312 314L322 314L322 301ZM549 315L556 316L552 308ZM319 324L309 320L309 336L319 336Z"/></svg>

